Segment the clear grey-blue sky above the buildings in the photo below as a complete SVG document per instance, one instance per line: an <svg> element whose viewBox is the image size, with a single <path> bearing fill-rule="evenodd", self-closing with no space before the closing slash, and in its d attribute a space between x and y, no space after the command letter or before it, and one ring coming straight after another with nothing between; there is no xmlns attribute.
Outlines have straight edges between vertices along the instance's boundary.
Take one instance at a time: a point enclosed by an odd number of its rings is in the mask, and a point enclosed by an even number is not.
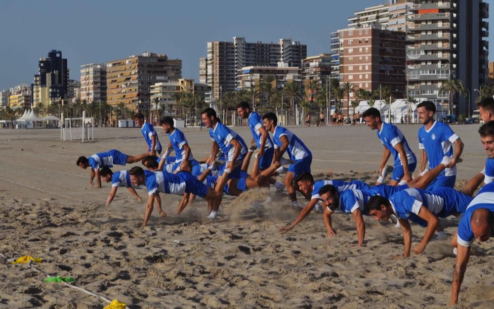
<svg viewBox="0 0 494 309"><path fill-rule="evenodd" d="M198 80L206 42L234 36L248 42L291 38L307 44L307 55L329 52L331 31L344 28L355 10L382 2L0 0L0 89L31 84L39 58L51 49L62 50L77 80L82 64L142 51L182 59L183 77Z"/></svg>

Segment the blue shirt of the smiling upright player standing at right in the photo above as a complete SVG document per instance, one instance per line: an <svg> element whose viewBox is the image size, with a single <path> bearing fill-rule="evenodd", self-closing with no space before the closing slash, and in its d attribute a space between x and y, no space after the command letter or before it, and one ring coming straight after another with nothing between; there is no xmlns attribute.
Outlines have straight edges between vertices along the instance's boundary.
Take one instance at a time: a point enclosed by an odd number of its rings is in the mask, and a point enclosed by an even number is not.
<svg viewBox="0 0 494 309"><path fill-rule="evenodd" d="M458 138L450 126L435 121L429 131L425 129L425 126L418 130L418 148L425 150L429 167L434 169L441 163L444 156L453 158L453 143ZM456 166L453 169L445 169L440 175L456 175Z"/></svg>

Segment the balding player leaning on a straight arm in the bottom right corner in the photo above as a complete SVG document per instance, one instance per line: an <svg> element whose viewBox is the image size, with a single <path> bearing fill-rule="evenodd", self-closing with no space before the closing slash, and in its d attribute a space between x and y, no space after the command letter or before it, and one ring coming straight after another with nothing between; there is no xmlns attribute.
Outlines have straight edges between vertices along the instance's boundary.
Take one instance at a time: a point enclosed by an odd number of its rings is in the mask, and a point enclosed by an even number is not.
<svg viewBox="0 0 494 309"><path fill-rule="evenodd" d="M471 244L477 238L487 241L494 236L494 182L482 187L470 202L453 236L452 245L457 248L453 270L451 300L449 305L458 303L458 294L470 258Z"/></svg>

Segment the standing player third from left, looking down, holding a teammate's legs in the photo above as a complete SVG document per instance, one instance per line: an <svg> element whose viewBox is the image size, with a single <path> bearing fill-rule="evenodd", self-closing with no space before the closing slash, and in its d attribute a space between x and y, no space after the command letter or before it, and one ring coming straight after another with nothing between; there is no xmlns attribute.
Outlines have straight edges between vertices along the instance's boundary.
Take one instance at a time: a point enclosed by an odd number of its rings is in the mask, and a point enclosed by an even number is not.
<svg viewBox="0 0 494 309"><path fill-rule="evenodd" d="M218 178L215 188L216 191L222 192L228 178L240 177L242 161L247 154L247 145L237 132L219 122L214 109L206 108L201 113L201 119L209 129L209 136L212 140L210 160L206 163L212 164L220 148L226 156L225 168L220 173L222 177Z"/></svg>

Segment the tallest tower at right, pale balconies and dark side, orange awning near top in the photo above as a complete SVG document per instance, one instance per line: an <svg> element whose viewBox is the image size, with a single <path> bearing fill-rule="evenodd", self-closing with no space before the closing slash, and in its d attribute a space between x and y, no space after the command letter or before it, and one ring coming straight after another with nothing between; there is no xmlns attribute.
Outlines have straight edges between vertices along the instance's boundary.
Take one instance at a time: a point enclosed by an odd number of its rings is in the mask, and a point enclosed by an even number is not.
<svg viewBox="0 0 494 309"><path fill-rule="evenodd" d="M488 81L489 4L482 0L413 0L408 15L407 73L413 97L448 101L441 92L445 81L461 80L476 98ZM466 95L465 95L466 97ZM457 104L453 99L453 105ZM448 102L449 103L449 102ZM457 104L467 114L473 104Z"/></svg>

